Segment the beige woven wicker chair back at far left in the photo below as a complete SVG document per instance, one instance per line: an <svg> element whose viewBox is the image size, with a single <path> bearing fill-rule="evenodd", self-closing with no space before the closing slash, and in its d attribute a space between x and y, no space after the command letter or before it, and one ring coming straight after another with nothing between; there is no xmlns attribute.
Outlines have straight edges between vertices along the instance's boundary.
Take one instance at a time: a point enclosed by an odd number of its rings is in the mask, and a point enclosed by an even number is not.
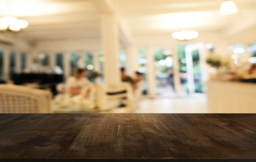
<svg viewBox="0 0 256 162"><path fill-rule="evenodd" d="M51 113L51 92L1 84L0 113Z"/></svg>

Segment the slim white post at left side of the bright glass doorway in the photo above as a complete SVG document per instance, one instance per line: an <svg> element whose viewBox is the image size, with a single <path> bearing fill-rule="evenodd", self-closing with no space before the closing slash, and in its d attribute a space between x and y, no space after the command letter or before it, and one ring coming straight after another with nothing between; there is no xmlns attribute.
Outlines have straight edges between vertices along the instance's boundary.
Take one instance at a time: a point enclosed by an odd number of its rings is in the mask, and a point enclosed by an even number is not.
<svg viewBox="0 0 256 162"><path fill-rule="evenodd" d="M156 76L154 70L154 53L152 49L146 49L147 59L147 80L148 80L148 97L154 99L156 96Z"/></svg>

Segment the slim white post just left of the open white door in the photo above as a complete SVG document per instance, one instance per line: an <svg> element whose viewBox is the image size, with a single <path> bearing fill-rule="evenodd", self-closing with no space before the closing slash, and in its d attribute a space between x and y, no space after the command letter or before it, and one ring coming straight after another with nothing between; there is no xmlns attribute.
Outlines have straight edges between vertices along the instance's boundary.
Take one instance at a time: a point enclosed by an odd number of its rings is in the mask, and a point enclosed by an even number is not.
<svg viewBox="0 0 256 162"><path fill-rule="evenodd" d="M180 97L182 84L180 82L180 76L179 76L179 57L177 53L177 47L173 47L173 81L174 81L174 89L176 97Z"/></svg>

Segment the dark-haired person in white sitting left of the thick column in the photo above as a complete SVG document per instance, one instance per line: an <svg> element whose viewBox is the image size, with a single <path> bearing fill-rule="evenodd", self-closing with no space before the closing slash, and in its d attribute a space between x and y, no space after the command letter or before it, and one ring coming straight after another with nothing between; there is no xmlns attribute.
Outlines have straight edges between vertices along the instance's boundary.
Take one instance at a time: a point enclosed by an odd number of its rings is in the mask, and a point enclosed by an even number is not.
<svg viewBox="0 0 256 162"><path fill-rule="evenodd" d="M91 83L86 78L87 71L83 68L77 68L74 70L73 76L67 80L68 92L74 96L81 94L86 89L87 96L89 95Z"/></svg>

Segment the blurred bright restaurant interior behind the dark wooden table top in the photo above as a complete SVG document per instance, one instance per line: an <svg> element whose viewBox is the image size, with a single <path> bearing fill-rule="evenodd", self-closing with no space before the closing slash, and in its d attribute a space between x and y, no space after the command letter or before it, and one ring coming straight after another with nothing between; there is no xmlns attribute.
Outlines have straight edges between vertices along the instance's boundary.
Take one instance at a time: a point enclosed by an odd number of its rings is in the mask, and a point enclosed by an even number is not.
<svg viewBox="0 0 256 162"><path fill-rule="evenodd" d="M255 0L1 0L0 113L256 113Z"/></svg>

